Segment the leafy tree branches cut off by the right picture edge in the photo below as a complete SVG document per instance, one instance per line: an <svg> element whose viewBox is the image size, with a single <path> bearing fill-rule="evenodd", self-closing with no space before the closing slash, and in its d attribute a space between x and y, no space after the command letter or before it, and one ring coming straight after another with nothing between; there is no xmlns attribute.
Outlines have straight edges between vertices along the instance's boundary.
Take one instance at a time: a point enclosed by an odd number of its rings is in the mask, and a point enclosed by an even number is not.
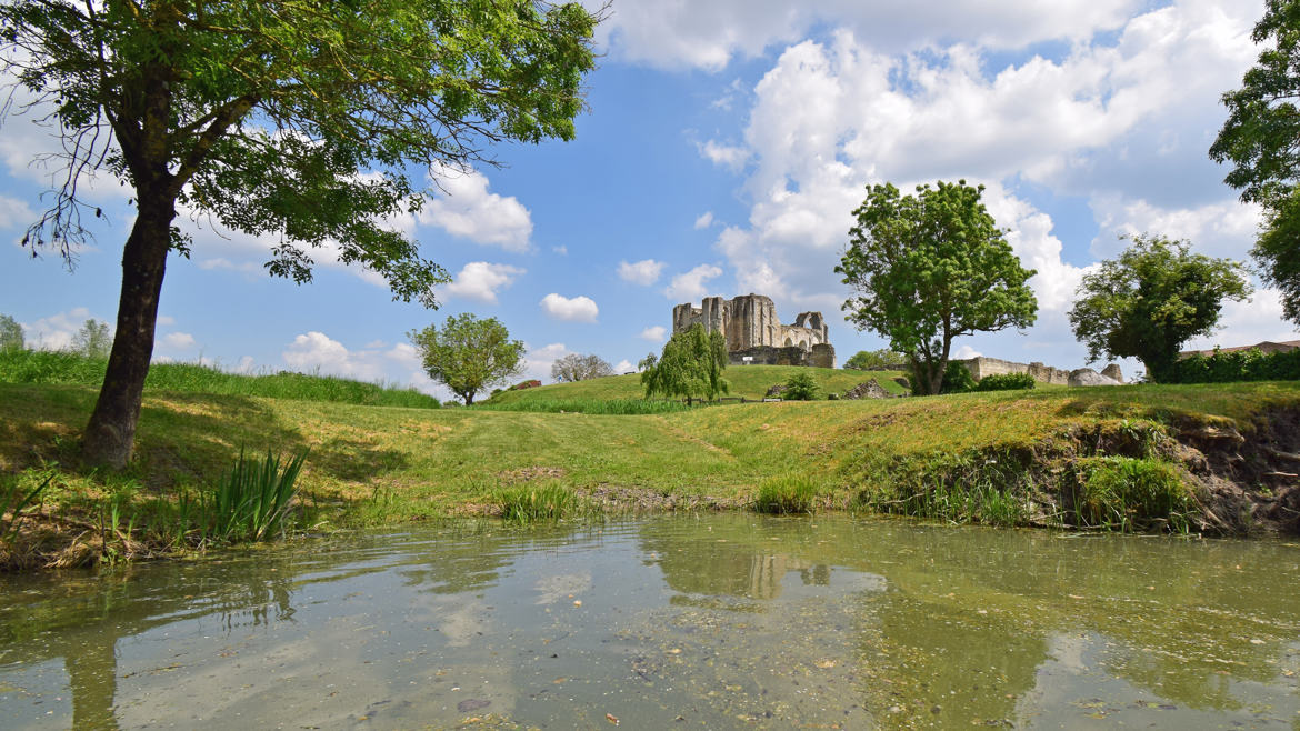
<svg viewBox="0 0 1300 731"><path fill-rule="evenodd" d="M1251 36L1265 43L1242 88L1223 95L1228 117L1210 157L1230 163L1223 182L1260 203L1265 222L1251 254L1282 290L1287 319L1300 323L1300 0L1265 0Z"/></svg>

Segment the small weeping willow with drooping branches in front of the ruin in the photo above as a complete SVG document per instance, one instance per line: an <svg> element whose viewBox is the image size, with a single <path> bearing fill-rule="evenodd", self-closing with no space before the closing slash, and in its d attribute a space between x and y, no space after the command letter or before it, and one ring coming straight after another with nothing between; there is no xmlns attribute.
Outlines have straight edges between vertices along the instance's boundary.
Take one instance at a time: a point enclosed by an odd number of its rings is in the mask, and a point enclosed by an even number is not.
<svg viewBox="0 0 1300 731"><path fill-rule="evenodd" d="M714 399L731 392L723 379L727 368L727 341L719 332L706 333L698 323L672 334L659 362L641 372L646 398L655 394L680 395L690 405L696 398Z"/></svg>

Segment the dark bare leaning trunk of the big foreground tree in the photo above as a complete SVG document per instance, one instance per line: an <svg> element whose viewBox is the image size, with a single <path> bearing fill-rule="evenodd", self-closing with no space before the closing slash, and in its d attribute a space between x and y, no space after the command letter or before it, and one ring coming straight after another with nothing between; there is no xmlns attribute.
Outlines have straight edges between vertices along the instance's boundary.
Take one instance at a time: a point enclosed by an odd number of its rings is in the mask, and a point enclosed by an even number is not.
<svg viewBox="0 0 1300 731"><path fill-rule="evenodd" d="M152 202L150 198L155 198ZM159 294L170 248L170 198L140 195L139 216L122 250L122 294L117 303L117 333L108 355L108 372L95 411L82 441L82 457L90 464L121 470L135 446L144 377L153 356Z"/></svg>

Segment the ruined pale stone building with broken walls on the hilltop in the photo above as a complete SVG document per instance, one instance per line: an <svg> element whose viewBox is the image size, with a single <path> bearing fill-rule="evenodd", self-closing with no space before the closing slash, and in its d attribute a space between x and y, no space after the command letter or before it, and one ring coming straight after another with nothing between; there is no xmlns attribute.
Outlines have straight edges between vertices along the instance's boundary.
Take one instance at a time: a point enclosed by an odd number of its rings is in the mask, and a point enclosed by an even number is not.
<svg viewBox="0 0 1300 731"><path fill-rule="evenodd" d="M696 323L705 332L723 333L732 366L815 366L835 368L835 346L820 312L800 312L793 325L776 319L776 304L762 294L733 299L706 297L699 307L684 303L672 308L672 332Z"/></svg>

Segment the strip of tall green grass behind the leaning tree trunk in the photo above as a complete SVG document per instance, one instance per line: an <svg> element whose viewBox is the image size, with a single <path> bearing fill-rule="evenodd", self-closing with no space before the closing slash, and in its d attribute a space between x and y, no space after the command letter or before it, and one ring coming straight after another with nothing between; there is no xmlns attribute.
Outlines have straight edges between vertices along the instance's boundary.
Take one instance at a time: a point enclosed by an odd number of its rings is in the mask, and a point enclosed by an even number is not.
<svg viewBox="0 0 1300 731"><path fill-rule="evenodd" d="M0 351L0 382L68 384L99 386L107 360L58 350ZM222 395L259 395L295 401L333 401L361 406L407 406L437 408L438 399L415 389L382 382L367 384L335 376L304 373L229 373L196 363L153 363L144 380L146 390L170 390Z"/></svg>

